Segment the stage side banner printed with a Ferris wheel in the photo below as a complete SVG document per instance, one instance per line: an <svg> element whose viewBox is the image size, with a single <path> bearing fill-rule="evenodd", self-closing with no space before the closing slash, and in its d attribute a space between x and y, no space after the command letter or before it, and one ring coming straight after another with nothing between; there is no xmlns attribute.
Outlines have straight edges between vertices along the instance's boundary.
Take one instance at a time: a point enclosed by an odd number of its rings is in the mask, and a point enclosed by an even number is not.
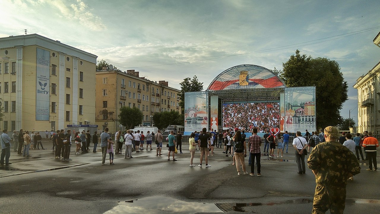
<svg viewBox="0 0 380 214"><path fill-rule="evenodd" d="M207 91L185 93L185 135L209 127L208 98Z"/></svg>

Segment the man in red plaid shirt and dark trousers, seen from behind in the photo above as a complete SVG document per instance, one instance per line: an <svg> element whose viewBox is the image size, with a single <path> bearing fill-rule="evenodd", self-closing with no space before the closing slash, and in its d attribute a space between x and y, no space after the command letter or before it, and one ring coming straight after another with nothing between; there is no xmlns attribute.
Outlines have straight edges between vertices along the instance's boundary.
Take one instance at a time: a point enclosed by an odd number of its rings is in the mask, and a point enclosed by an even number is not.
<svg viewBox="0 0 380 214"><path fill-rule="evenodd" d="M252 136L249 137L248 142L250 144L249 152L251 153L252 157L252 163L251 163L251 173L250 176L254 176L255 172L255 158L256 158L256 165L257 165L257 176L261 176L261 165L260 165L260 158L261 158L261 137L257 135L257 128L252 129Z"/></svg>

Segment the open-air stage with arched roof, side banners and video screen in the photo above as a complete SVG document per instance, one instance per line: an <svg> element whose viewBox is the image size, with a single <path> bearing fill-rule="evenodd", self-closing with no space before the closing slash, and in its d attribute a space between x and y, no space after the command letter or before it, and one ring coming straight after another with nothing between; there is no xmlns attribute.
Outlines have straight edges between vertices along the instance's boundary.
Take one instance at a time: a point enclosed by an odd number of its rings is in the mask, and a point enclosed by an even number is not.
<svg viewBox="0 0 380 214"><path fill-rule="evenodd" d="M231 67L206 91L185 93L185 135L218 125L244 129L247 136L255 127L262 134L315 130L315 87L287 88L275 73L258 65Z"/></svg>

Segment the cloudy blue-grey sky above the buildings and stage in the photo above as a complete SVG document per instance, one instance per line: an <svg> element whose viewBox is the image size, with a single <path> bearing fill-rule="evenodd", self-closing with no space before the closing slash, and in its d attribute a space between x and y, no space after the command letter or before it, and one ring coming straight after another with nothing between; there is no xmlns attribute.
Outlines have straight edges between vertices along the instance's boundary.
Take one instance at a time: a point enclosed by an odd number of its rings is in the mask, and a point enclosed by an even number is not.
<svg viewBox="0 0 380 214"><path fill-rule="evenodd" d="M0 37L27 29L177 89L194 75L207 89L240 64L282 69L297 49L326 57L348 83L341 115L352 109L356 124L353 85L380 58L376 0L1 0L0 8Z"/></svg>

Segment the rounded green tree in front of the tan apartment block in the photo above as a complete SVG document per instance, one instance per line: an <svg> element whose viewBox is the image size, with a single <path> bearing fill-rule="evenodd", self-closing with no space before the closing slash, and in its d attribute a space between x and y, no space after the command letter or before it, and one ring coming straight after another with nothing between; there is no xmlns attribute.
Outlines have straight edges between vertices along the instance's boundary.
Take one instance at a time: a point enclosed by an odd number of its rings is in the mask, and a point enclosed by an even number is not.
<svg viewBox="0 0 380 214"><path fill-rule="evenodd" d="M135 126L139 126L143 117L142 112L136 107L130 108L123 106L120 108L119 121L120 124L127 129L133 129Z"/></svg>

